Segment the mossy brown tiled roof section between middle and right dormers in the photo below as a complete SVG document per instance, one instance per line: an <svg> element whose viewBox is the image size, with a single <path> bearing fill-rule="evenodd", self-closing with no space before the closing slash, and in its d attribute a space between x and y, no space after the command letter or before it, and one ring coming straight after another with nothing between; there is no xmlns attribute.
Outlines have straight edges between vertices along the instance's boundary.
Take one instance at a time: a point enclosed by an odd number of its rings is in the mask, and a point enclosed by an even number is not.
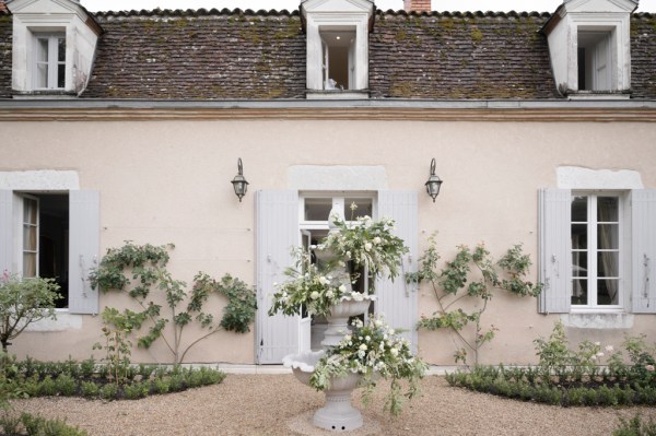
<svg viewBox="0 0 656 436"><path fill-rule="evenodd" d="M378 14L370 38L374 97L557 98L548 14Z"/></svg>

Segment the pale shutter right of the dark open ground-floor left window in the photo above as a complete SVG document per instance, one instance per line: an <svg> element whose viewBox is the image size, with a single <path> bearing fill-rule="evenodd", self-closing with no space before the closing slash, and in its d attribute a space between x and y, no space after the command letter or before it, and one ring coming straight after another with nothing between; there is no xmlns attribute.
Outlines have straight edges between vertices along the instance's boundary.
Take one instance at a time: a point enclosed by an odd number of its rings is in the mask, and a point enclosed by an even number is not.
<svg viewBox="0 0 656 436"><path fill-rule="evenodd" d="M101 249L101 198L98 191L69 191L69 311L98 313L98 290L92 290L89 272Z"/></svg>

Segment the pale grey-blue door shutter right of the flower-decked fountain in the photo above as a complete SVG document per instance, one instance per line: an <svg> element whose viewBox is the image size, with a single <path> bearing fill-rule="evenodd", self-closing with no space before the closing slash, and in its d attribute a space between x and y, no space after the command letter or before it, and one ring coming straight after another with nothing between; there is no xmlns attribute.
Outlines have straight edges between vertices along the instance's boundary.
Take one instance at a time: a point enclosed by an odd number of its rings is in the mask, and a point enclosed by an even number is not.
<svg viewBox="0 0 656 436"><path fill-rule="evenodd" d="M417 271L418 198L417 191L378 191L378 219L396 221L394 234L403 239L410 251L403 257L401 274L394 282L376 282L376 313L385 314L390 327L406 330L402 334L417 352L417 285L406 283L405 272Z"/></svg>

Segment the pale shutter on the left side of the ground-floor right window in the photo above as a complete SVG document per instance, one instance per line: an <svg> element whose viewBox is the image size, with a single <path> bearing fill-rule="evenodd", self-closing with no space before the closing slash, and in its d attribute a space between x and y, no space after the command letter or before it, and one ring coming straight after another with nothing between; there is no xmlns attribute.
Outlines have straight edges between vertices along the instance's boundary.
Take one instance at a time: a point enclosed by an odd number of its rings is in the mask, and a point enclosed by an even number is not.
<svg viewBox="0 0 656 436"><path fill-rule="evenodd" d="M539 280L544 284L538 298L542 314L569 313L572 306L572 191L543 189L539 198Z"/></svg>

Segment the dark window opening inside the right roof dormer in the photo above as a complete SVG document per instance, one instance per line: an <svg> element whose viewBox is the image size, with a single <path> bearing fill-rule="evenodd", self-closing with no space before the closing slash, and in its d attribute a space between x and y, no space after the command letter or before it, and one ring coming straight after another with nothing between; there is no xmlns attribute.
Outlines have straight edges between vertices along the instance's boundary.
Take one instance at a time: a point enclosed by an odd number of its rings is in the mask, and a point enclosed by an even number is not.
<svg viewBox="0 0 656 436"><path fill-rule="evenodd" d="M610 91L611 32L578 30L578 91Z"/></svg>

